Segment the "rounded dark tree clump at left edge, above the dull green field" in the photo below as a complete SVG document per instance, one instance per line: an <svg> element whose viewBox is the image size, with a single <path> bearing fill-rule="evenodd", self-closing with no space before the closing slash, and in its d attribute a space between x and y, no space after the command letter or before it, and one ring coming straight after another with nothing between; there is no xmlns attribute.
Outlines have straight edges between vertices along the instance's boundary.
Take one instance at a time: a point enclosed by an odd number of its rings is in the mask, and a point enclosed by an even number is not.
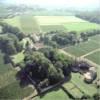
<svg viewBox="0 0 100 100"><path fill-rule="evenodd" d="M0 49L7 55L16 54L22 50L18 38L10 33L0 36Z"/></svg>

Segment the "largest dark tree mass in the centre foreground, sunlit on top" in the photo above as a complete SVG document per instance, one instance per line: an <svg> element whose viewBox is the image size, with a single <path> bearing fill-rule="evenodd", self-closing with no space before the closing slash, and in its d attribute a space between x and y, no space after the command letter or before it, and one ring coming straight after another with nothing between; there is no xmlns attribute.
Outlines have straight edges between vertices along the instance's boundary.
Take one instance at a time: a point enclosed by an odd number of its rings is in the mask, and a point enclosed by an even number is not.
<svg viewBox="0 0 100 100"><path fill-rule="evenodd" d="M25 56L25 70L38 80L48 78L51 84L55 84L64 78L62 70L56 67L42 53L34 52L32 55Z"/></svg>

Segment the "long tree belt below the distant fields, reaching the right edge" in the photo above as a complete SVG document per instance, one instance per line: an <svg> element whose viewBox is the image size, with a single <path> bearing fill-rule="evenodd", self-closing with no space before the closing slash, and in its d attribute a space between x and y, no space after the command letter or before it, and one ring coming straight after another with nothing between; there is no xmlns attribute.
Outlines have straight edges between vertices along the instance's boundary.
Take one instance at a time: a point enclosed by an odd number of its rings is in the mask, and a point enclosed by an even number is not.
<svg viewBox="0 0 100 100"><path fill-rule="evenodd" d="M41 37L41 41L46 45L58 48L65 45L75 45L82 41L87 41L89 37L98 34L100 34L100 30L84 31L80 33L80 36L78 36L75 31L67 33L55 31L47 33L44 37Z"/></svg>

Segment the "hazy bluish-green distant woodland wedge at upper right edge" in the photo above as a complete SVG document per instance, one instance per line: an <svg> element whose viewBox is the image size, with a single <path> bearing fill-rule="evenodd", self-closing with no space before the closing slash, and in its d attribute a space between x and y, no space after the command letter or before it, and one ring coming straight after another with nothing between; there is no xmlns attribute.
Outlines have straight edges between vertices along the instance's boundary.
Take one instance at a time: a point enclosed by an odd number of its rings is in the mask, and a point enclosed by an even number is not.
<svg viewBox="0 0 100 100"><path fill-rule="evenodd" d="M85 20L90 21L90 22L100 24L100 12L99 11L80 13L80 14L77 14L76 17L85 19Z"/></svg>

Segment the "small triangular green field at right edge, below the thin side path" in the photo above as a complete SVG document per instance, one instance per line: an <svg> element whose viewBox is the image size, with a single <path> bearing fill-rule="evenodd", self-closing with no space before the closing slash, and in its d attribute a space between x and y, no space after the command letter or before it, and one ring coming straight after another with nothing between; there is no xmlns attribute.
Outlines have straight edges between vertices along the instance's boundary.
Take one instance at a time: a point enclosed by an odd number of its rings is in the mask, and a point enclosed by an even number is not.
<svg viewBox="0 0 100 100"><path fill-rule="evenodd" d="M100 51L97 51L91 55L88 55L86 58L100 65Z"/></svg>

